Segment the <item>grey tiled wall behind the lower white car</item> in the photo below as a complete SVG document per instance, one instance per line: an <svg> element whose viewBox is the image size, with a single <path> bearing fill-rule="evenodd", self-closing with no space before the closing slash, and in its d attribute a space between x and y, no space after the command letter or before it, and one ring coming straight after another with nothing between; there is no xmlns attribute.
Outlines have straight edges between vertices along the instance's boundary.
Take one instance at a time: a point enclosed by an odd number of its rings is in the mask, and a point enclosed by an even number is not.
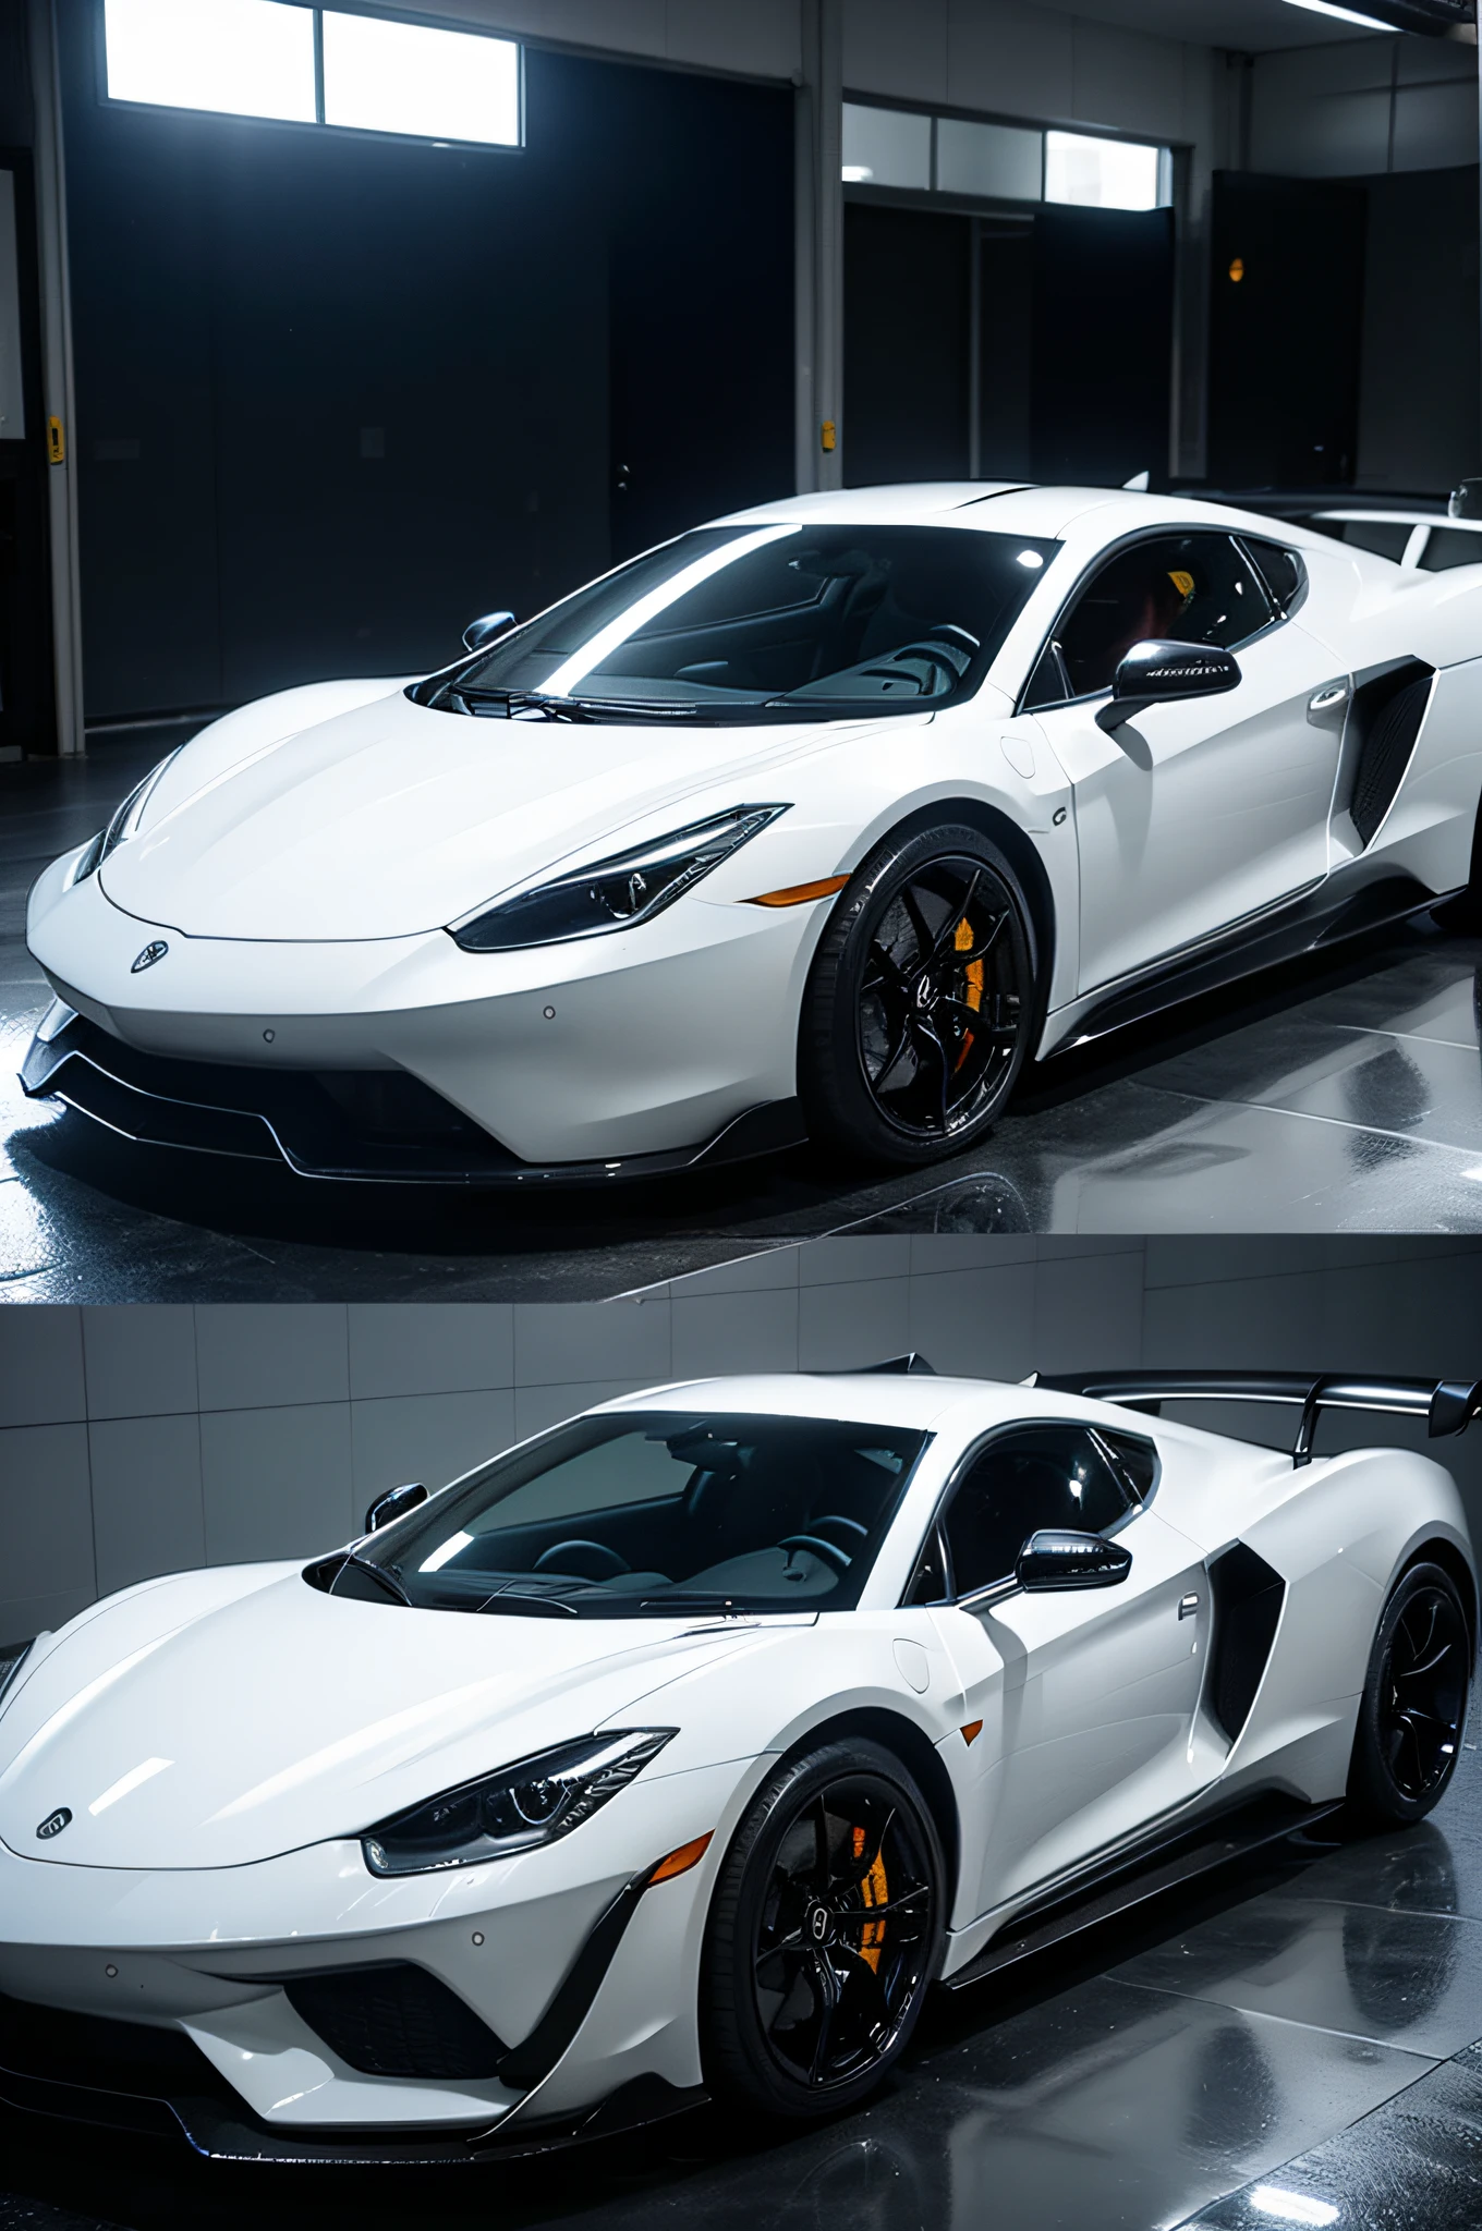
<svg viewBox="0 0 1482 2231"><path fill-rule="evenodd" d="M998 1379L1136 1363L1475 1377L1480 1301L1471 1240L886 1236L609 1303L0 1310L0 1642L152 1573L330 1548L397 1481L442 1484L663 1379L906 1348ZM1283 1432L1286 1417L1241 1426ZM1444 1455L1482 1533L1482 1432Z"/></svg>

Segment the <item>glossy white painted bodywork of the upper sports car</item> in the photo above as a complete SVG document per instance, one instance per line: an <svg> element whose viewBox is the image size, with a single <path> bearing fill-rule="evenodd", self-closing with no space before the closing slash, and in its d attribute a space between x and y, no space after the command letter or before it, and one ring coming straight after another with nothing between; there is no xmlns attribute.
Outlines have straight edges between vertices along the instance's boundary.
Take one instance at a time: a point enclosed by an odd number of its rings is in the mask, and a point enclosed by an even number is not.
<svg viewBox="0 0 1482 2231"><path fill-rule="evenodd" d="M978 696L940 714L797 727L560 727L413 705L404 680L288 689L212 723L98 877L36 883L27 939L67 1004L154 1053L290 1069L400 1066L533 1162L699 1147L797 1086L797 1022L828 899L911 814L1000 814L1053 906L1040 1051L1087 995L1326 877L1466 881L1482 792L1482 580L1424 576L1221 504L1105 489L859 489L734 524L935 522L1062 542ZM1158 705L1118 738L1094 703L1016 705L1067 596L1152 529L1299 547L1301 611L1239 656L1241 687ZM1386 658L1440 669L1413 765L1359 848L1339 734L1308 696ZM556 741L554 741L556 738ZM1348 770L1350 772L1350 770ZM741 801L790 810L654 921L529 953L446 935L491 899ZM165 937L167 964L132 962ZM547 1013L554 1008L554 1015ZM272 1033L268 1037L266 1033Z"/></svg>

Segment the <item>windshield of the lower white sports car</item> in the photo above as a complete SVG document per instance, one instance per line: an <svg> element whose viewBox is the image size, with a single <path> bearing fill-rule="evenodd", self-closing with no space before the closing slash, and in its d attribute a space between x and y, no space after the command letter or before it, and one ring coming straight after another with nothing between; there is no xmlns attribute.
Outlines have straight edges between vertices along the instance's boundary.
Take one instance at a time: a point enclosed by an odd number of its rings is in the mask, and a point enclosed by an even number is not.
<svg viewBox="0 0 1482 2231"><path fill-rule="evenodd" d="M362 1542L333 1593L451 1611L846 1611L926 1443L714 1410L578 1417Z"/></svg>

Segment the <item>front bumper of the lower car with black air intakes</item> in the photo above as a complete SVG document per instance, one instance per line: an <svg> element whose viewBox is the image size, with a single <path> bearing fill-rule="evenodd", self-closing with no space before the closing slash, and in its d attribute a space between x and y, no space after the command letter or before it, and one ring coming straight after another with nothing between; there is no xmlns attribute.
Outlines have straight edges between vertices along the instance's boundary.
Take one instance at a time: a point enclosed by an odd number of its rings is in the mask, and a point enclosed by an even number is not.
<svg viewBox="0 0 1482 2231"><path fill-rule="evenodd" d="M734 1767L638 1780L600 1834L388 1881L357 1843L167 1872L0 1845L0 2097L297 2160L366 2157L366 2133L458 2160L576 2135L607 2102L598 2128L672 2113L701 2086L721 1838L647 1876L734 1791ZM154 2050L118 2044L134 2028Z"/></svg>

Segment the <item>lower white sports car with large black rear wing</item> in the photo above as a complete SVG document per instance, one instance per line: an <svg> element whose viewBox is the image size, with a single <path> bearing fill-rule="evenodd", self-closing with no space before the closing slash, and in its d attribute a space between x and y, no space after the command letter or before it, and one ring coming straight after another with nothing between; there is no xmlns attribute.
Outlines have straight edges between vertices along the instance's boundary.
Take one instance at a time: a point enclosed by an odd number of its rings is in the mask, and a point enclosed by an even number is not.
<svg viewBox="0 0 1482 2231"><path fill-rule="evenodd" d="M1132 1408L1190 1394L1299 1403L1295 1450ZM0 2097L279 2160L810 2117L937 1979L1417 1820L1466 1522L1426 1457L1312 1457L1328 1406L1460 1432L1482 1385L670 1385L96 1604L0 1689Z"/></svg>

